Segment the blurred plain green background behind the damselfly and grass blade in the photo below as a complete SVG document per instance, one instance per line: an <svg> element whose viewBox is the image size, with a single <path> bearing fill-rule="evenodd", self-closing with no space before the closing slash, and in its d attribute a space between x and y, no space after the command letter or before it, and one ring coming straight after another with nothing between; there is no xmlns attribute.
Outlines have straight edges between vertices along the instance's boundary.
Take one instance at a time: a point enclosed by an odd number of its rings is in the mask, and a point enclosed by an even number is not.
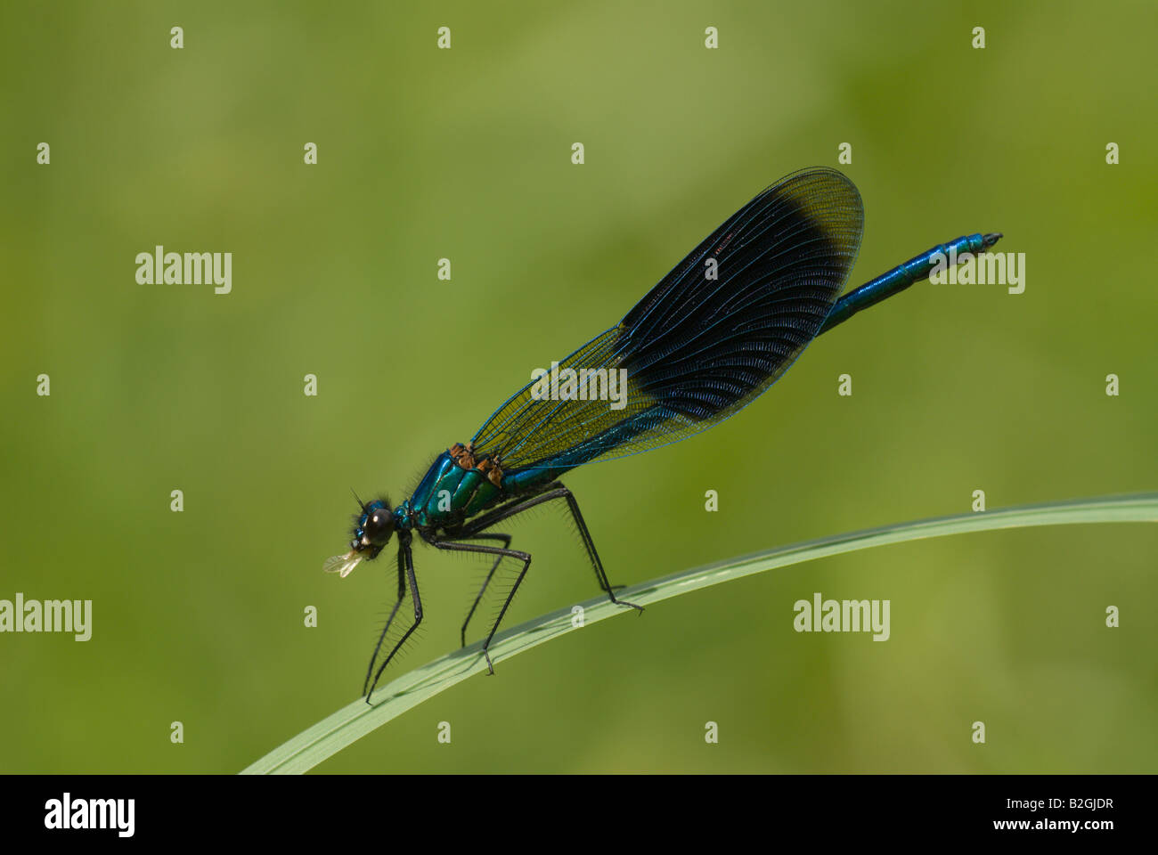
<svg viewBox="0 0 1158 855"><path fill-rule="evenodd" d="M1153 3L0 16L0 598L94 602L87 643L0 636L0 770L235 772L353 700L393 548L321 572L350 488L401 500L533 367L841 142L866 209L850 286L1002 231L1025 293L915 287L741 416L572 473L613 582L968 511L976 489L1158 489ZM157 243L233 253L233 293L138 285ZM507 626L598 593L562 512L512 531L535 563ZM500 660L320 770L1155 772L1156 548L1152 526L1039 528L717 586ZM485 571L416 560L427 618L394 675L457 644ZM889 599L892 638L794 633L815 591Z"/></svg>

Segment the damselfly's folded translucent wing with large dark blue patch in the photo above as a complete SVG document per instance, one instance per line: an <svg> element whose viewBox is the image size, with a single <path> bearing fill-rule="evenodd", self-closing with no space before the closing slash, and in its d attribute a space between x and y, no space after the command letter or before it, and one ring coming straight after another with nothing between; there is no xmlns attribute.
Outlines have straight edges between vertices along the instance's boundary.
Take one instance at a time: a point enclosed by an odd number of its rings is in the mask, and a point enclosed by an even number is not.
<svg viewBox="0 0 1158 855"><path fill-rule="evenodd" d="M505 472L570 468L724 421L776 382L819 332L863 229L860 195L843 174L813 168L782 178L617 326L562 360L555 397L542 381L512 395L475 434L476 455L497 458ZM566 371L576 373L574 388ZM617 390L608 389L610 372L625 372L620 409L599 396ZM576 397L559 397L569 394Z"/></svg>

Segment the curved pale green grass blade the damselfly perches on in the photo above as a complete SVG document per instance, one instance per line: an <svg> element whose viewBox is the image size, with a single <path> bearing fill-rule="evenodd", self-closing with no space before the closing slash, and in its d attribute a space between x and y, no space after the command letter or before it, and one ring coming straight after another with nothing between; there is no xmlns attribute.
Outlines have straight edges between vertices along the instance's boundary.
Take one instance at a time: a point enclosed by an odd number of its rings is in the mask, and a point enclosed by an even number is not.
<svg viewBox="0 0 1158 855"><path fill-rule="evenodd" d="M849 534L837 534L805 543L779 547L755 555L730 558L709 567L684 570L672 576L624 589L618 595L642 606L698 591L709 585L731 582L752 573L851 553L857 549L901 543L947 534L983 532L996 528L1073 525L1078 522L1153 522L1158 521L1158 494L1078 499L1043 505L1029 505L1002 511L963 513L955 517L903 522ZM617 614L633 613L613 605L606 597L581 604L584 623L596 623ZM545 641L570 633L571 607L542 615L494 636L491 658L503 662L530 650ZM313 728L271 751L241 774L301 774L317 766L342 748L357 741L375 728L398 717L408 709L440 692L445 692L472 674L486 671L479 644L447 653L422 667L402 674L375 693L382 699L373 707L361 699L343 707Z"/></svg>

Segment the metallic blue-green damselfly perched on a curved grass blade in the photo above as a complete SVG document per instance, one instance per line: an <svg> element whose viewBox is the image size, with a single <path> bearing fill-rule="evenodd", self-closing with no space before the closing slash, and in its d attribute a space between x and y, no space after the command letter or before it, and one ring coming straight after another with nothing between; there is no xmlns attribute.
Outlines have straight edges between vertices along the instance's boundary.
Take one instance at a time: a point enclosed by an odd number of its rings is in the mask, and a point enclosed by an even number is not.
<svg viewBox="0 0 1158 855"><path fill-rule="evenodd" d="M398 536L397 600L366 671L366 701L423 620L416 533L435 549L494 558L462 624L463 645L499 563L521 565L483 642L490 673L491 640L530 568L530 555L512 549L511 535L494 527L536 505L566 503L600 589L611 602L643 611L616 598L622 586L608 580L579 504L559 477L711 427L776 382L821 332L928 278L946 258L961 261L1002 236L958 237L837 299L863 227L860 193L843 174L813 168L785 176L712 232L622 321L512 395L469 443L439 454L410 498L397 507L359 500L350 551L329 558L325 570L346 576ZM408 585L413 622L375 670Z"/></svg>

